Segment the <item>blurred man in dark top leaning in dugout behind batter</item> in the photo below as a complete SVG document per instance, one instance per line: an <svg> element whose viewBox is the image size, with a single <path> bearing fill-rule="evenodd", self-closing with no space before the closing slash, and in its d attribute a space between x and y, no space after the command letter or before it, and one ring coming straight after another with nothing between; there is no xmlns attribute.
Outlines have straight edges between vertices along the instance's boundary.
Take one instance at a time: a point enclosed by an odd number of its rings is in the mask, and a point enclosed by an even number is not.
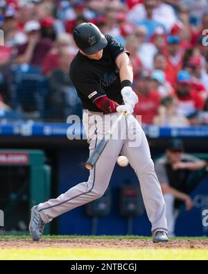
<svg viewBox="0 0 208 274"><path fill-rule="evenodd" d="M174 237L175 219L178 208L185 203L186 210L191 210L193 202L187 193L187 181L193 171L207 166L207 162L183 153L182 140L173 139L166 150L166 155L155 162L155 171L162 187L166 202L166 219L170 237Z"/></svg>

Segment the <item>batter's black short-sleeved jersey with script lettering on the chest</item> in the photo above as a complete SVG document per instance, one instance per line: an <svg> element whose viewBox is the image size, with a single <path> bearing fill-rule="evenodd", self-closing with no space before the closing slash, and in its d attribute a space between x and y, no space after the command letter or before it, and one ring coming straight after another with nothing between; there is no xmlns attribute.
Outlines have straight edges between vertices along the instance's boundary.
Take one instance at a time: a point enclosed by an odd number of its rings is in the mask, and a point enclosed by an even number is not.
<svg viewBox="0 0 208 274"><path fill-rule="evenodd" d="M119 69L115 60L119 54L128 51L114 37L105 35L105 38L107 46L103 49L100 60L89 59L78 52L69 70L69 76L76 87L83 108L94 112L103 112L94 104L94 101L101 96L107 96L119 105L123 103Z"/></svg>

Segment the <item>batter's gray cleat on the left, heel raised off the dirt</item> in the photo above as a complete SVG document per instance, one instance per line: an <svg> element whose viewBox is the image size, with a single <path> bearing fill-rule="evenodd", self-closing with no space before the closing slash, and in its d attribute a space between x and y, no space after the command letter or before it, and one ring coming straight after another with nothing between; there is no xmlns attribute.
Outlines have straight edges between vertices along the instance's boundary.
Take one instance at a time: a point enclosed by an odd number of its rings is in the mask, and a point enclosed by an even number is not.
<svg viewBox="0 0 208 274"><path fill-rule="evenodd" d="M37 209L37 205L34 205L34 207L31 209L31 221L29 224L29 230L33 241L40 240L45 225L46 223L42 221L40 213Z"/></svg>

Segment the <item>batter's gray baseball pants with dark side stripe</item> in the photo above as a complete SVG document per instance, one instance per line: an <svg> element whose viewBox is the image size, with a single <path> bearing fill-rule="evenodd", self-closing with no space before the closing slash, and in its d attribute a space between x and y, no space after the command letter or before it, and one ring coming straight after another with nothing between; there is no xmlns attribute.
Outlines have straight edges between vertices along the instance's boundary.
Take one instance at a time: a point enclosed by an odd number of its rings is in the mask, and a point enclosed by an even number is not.
<svg viewBox="0 0 208 274"><path fill-rule="evenodd" d="M85 112L83 114L83 125L89 143L89 153L94 151L99 139L112 126L109 121L114 122L118 116L119 113L104 115L100 112ZM146 135L137 119L132 115L123 117L116 126L112 139L105 146L94 169L89 172L87 182L81 182L58 198L50 199L38 205L42 220L49 223L53 218L75 207L100 198L107 189L119 154L128 157L130 165L137 174L153 234L157 230L167 233L166 205L150 156Z"/></svg>

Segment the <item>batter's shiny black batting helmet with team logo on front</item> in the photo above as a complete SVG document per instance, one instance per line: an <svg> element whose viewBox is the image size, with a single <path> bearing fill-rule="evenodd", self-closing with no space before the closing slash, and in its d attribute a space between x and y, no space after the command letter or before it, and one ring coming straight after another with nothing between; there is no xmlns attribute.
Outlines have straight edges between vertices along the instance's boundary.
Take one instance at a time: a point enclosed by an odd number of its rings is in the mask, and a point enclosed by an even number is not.
<svg viewBox="0 0 208 274"><path fill-rule="evenodd" d="M107 46L107 40L99 28L92 23L82 23L73 31L73 39L79 49L91 55Z"/></svg>

